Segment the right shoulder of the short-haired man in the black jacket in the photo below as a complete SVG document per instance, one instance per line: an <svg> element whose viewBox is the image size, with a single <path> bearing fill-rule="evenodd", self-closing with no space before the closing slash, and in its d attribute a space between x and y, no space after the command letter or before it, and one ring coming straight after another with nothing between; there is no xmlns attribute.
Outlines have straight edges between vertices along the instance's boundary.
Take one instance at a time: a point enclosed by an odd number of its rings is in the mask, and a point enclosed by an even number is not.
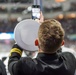
<svg viewBox="0 0 76 75"><path fill-rule="evenodd" d="M62 52L63 62L70 69L70 71L75 71L76 69L76 59L75 56L70 52Z"/></svg>

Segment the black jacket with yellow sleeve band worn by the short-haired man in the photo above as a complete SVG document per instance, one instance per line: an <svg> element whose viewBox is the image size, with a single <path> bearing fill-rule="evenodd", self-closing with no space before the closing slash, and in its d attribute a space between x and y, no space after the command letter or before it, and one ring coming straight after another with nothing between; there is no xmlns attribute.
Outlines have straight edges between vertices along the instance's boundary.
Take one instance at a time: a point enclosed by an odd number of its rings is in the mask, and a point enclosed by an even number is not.
<svg viewBox="0 0 76 75"><path fill-rule="evenodd" d="M21 50L19 49L19 51ZM74 75L76 60L69 52L39 53L37 58L32 59L21 57L18 50L13 50L9 58L8 68L12 75Z"/></svg>

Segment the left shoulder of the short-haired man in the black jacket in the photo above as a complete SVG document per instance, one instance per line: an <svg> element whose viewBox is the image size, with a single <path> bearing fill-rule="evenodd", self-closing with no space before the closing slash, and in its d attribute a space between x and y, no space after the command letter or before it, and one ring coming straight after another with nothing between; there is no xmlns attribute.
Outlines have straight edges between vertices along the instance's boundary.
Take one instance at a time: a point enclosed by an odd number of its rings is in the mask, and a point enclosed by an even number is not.
<svg viewBox="0 0 76 75"><path fill-rule="evenodd" d="M30 72L35 70L34 59L30 57L22 57L14 67L15 75L29 75Z"/></svg>

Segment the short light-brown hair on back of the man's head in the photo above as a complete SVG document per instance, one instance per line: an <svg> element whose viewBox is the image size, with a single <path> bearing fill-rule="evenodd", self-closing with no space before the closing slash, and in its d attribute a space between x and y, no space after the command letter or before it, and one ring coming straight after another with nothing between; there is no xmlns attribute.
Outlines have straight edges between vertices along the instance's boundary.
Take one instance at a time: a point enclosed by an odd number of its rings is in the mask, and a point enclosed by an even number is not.
<svg viewBox="0 0 76 75"><path fill-rule="evenodd" d="M54 53L64 39L64 29L55 19L44 21L38 31L39 47L46 53Z"/></svg>

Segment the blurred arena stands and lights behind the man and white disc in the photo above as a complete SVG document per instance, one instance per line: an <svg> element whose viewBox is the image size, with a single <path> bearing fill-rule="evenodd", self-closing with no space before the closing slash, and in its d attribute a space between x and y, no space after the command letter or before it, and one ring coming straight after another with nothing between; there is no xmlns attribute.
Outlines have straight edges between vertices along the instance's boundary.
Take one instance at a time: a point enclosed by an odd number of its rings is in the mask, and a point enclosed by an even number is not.
<svg viewBox="0 0 76 75"><path fill-rule="evenodd" d="M0 53L14 44L16 24L31 18L33 0L0 0ZM76 0L42 0L45 19L55 18L65 29L65 46L76 50ZM0 54L0 55L1 55Z"/></svg>

